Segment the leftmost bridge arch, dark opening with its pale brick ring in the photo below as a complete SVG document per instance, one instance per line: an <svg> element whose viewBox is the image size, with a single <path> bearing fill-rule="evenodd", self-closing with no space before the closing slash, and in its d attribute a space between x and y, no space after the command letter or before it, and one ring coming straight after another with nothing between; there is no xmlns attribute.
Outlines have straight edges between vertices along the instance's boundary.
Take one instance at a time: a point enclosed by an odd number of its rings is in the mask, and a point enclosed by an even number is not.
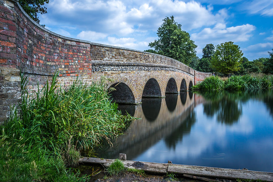
<svg viewBox="0 0 273 182"><path fill-rule="evenodd" d="M108 85L108 90L111 94L110 98L113 99L116 103L137 103L136 101L136 90L133 87L131 81L121 75L112 76L112 84ZM115 88L111 91L110 87Z"/></svg>

